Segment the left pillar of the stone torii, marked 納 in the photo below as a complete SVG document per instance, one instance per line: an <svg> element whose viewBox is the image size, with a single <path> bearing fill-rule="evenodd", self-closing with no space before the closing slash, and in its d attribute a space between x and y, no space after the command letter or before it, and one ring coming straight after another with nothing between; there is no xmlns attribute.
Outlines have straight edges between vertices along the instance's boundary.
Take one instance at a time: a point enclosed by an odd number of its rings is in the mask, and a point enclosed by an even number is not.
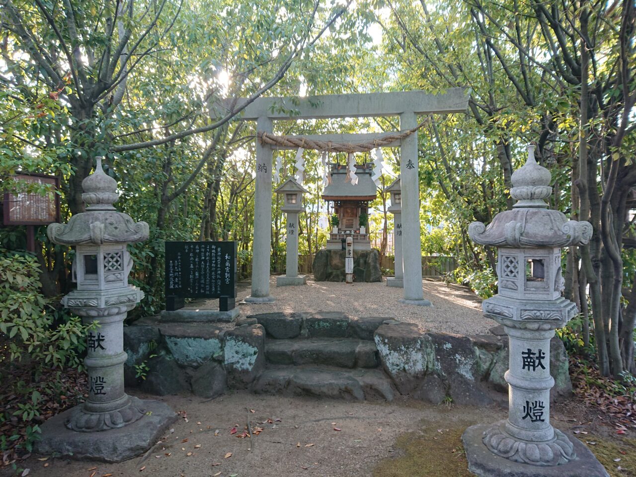
<svg viewBox="0 0 636 477"><path fill-rule="evenodd" d="M272 132L272 119L256 121L256 130ZM252 294L249 303L272 303L270 255L272 252L272 148L256 140L256 190L254 192L254 240L252 249Z"/></svg>

